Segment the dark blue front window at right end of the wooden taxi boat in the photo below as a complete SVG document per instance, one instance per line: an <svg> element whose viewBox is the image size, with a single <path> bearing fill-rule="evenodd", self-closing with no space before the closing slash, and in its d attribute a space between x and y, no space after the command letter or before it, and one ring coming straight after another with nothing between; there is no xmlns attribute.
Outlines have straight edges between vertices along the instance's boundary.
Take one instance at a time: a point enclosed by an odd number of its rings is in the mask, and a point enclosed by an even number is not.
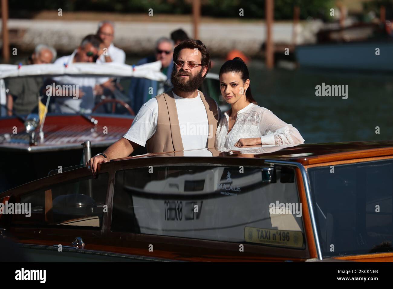
<svg viewBox="0 0 393 289"><path fill-rule="evenodd" d="M391 252L393 161L310 168L324 257Z"/></svg>

